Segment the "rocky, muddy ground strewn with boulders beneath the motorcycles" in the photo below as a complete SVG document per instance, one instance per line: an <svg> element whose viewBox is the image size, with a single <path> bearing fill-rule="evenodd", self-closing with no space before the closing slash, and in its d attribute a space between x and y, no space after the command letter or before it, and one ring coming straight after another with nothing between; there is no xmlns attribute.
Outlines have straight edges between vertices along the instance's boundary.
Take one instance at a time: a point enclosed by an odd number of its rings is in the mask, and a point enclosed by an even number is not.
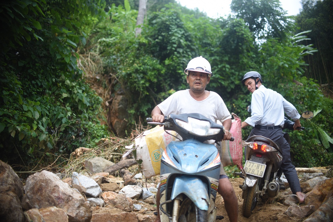
<svg viewBox="0 0 333 222"><path fill-rule="evenodd" d="M98 161L97 161L98 160ZM159 176L147 181L138 173L126 169L120 175L110 175L100 167L109 161L95 157L84 162L86 170L70 175L43 170L23 181L12 168L0 161L0 221L33 222L151 222L156 216ZM103 163L103 164L102 164ZM110 163L111 166L115 166ZM89 169L88 169L89 168ZM87 171L95 171L87 173ZM242 216L243 179L230 179L238 198L238 221L332 221L332 169L312 169L314 173L299 173L301 187L306 193L304 204L289 196L285 189L275 198L260 200L249 218ZM327 177L328 176L328 177ZM217 215L229 221L221 196L216 198Z"/></svg>

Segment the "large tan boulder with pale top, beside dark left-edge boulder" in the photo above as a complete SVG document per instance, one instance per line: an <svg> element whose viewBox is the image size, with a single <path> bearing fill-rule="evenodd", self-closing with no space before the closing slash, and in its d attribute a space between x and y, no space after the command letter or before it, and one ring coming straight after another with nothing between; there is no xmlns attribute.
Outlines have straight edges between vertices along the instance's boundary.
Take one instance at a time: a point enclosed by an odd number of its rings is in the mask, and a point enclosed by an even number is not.
<svg viewBox="0 0 333 222"><path fill-rule="evenodd" d="M29 176L24 191L22 204L28 209L55 206L66 212L69 222L89 222L92 218L90 205L83 196L46 170Z"/></svg>

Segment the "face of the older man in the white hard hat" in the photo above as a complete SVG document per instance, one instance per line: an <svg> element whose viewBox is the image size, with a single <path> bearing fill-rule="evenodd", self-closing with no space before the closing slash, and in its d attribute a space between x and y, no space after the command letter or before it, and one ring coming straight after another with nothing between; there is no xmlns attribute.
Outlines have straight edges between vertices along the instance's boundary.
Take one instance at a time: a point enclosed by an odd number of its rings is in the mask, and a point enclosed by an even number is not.
<svg viewBox="0 0 333 222"><path fill-rule="evenodd" d="M209 83L210 77L207 76L207 73L189 71L187 76L187 83L190 90L193 92L204 91L206 85Z"/></svg>

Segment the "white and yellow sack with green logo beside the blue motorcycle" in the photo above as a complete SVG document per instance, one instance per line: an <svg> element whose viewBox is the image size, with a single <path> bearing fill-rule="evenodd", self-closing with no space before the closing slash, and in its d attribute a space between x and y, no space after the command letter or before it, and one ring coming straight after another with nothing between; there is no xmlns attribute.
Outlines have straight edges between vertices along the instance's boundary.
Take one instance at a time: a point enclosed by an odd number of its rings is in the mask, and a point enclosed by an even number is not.
<svg viewBox="0 0 333 222"><path fill-rule="evenodd" d="M147 130L135 138L136 160L141 162L141 169L145 178L160 174L162 153L166 146L176 140L176 132L167 130L159 125Z"/></svg>

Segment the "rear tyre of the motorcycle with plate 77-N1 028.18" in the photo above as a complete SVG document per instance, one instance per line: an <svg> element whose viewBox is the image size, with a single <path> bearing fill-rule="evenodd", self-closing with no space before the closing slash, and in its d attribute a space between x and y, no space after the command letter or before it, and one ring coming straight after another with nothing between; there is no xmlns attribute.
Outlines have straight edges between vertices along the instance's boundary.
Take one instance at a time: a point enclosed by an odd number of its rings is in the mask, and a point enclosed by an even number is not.
<svg viewBox="0 0 333 222"><path fill-rule="evenodd" d="M250 217L252 210L257 205L259 187L256 183L253 187L247 187L244 190L244 201L243 201L243 216Z"/></svg>

